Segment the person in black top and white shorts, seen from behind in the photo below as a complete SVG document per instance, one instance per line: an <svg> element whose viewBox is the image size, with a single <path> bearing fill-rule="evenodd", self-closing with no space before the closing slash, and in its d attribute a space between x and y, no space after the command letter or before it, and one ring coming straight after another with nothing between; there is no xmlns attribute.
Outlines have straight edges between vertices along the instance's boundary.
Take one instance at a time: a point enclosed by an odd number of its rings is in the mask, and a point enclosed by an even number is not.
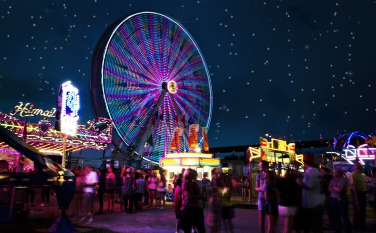
<svg viewBox="0 0 376 233"><path fill-rule="evenodd" d="M291 233L297 210L297 184L290 169L277 180L278 215L283 219L283 233Z"/></svg>

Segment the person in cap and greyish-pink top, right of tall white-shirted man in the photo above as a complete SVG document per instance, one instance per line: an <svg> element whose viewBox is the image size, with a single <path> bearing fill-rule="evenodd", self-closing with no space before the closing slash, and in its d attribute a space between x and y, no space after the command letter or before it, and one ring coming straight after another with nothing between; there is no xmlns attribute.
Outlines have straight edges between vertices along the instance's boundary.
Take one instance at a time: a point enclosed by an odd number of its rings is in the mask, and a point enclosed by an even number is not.
<svg viewBox="0 0 376 233"><path fill-rule="evenodd" d="M346 195L347 180L344 178L342 170L334 170L334 179L330 181L328 190L330 191L330 206L334 216L335 233L351 232L350 219L348 218L348 199ZM341 217L343 224L341 223Z"/></svg>

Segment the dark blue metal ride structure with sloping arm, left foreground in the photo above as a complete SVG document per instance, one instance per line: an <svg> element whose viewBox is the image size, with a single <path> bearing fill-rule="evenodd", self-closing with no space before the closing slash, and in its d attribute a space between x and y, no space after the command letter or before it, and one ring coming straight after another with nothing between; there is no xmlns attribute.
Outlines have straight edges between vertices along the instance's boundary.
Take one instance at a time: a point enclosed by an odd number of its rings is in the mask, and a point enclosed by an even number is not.
<svg viewBox="0 0 376 233"><path fill-rule="evenodd" d="M59 164L53 162L48 156L26 143L18 135L12 133L8 129L0 127L0 139L18 153L23 154L28 159L32 160L34 170L36 171L35 173L12 172L10 169L1 171L0 186L2 187L2 191L9 190L8 193L12 193L10 216L14 214L12 209L16 188L52 187L55 190L59 208L62 210L62 215L48 229L48 232L77 231L66 215L66 210L69 208L69 204L76 189L75 175Z"/></svg>

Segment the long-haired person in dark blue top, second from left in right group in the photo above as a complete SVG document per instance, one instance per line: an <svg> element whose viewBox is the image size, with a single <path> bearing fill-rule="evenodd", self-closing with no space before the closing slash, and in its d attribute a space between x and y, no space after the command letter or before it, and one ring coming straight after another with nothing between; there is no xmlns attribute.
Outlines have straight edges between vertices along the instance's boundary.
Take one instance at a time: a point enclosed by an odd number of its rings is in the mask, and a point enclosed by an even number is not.
<svg viewBox="0 0 376 233"><path fill-rule="evenodd" d="M268 233L275 233L278 218L277 177L274 171L267 171L264 182L265 213L268 218Z"/></svg>

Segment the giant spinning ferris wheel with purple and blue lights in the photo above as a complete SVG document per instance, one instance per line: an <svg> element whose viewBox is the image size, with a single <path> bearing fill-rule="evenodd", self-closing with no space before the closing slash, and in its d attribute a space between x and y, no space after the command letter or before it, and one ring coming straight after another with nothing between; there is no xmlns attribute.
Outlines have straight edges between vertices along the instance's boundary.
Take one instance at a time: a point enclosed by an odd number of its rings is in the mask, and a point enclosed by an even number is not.
<svg viewBox="0 0 376 233"><path fill-rule="evenodd" d="M170 152L174 127L188 134L191 123L210 125L204 57L178 22L159 13L137 13L109 28L93 58L91 90L97 115L113 120L129 154L150 162ZM179 147L187 149L184 140Z"/></svg>

